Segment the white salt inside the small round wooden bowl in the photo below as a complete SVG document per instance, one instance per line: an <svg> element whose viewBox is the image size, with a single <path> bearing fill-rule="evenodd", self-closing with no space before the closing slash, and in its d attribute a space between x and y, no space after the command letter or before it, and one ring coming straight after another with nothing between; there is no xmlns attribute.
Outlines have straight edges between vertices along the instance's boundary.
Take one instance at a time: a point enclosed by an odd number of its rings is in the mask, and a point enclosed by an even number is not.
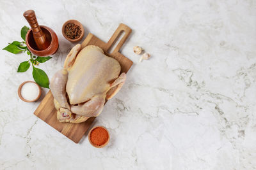
<svg viewBox="0 0 256 170"><path fill-rule="evenodd" d="M20 94L24 99L33 101L39 96L39 88L35 83L28 82L22 86Z"/></svg>

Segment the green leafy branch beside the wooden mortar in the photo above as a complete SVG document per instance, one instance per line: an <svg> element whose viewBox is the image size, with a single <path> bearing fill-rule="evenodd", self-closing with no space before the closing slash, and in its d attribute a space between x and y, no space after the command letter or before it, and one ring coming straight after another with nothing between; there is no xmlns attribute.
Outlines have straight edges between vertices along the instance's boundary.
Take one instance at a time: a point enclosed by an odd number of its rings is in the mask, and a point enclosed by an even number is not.
<svg viewBox="0 0 256 170"><path fill-rule="evenodd" d="M35 56L33 55L29 50L28 47L26 46L26 34L29 30L29 27L22 27L21 31L20 31L20 36L22 39L24 39L24 41L13 41L12 43L9 43L8 46L6 46L5 48L3 48L3 50L6 50L8 52L11 53L27 53L29 55L29 60L21 62L17 72L19 73L23 73L26 72L29 67L30 64L32 64L33 66L33 71L32 71L32 75L34 80L36 81L36 83L38 83L38 85L40 85L41 87L45 87L49 89L49 78L47 76L47 74L42 70L39 69L35 66L37 66L39 63L44 63L47 60L51 59L52 57L48 56L48 57L40 57L40 56Z"/></svg>

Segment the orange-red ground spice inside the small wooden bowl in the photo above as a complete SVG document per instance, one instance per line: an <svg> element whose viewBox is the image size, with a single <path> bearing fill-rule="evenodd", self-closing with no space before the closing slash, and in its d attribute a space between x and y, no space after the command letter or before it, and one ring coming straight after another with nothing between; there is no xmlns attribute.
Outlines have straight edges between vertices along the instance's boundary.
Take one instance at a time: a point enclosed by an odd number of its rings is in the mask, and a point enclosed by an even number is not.
<svg viewBox="0 0 256 170"><path fill-rule="evenodd" d="M94 145L101 146L108 141L108 132L102 127L96 127L90 134L90 140Z"/></svg>

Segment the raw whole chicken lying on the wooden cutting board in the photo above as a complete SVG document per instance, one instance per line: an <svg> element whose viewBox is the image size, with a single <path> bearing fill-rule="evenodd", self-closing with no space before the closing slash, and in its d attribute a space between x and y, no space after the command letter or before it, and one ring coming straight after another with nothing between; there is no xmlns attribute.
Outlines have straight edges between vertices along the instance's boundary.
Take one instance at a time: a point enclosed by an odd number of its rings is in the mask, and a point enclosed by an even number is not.
<svg viewBox="0 0 256 170"><path fill-rule="evenodd" d="M97 117L106 99L124 85L126 74L120 70L118 61L104 55L99 46L83 50L80 44L74 46L50 83L58 120L80 123Z"/></svg>

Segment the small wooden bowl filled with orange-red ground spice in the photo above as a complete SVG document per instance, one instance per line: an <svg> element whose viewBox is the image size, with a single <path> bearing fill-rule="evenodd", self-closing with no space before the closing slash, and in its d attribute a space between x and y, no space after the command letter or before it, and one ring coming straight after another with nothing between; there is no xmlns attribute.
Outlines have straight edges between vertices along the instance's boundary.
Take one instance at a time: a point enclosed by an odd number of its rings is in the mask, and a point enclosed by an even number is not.
<svg viewBox="0 0 256 170"><path fill-rule="evenodd" d="M109 132L105 127L96 126L91 129L88 134L88 139L92 146L96 148L103 148L108 145Z"/></svg>

